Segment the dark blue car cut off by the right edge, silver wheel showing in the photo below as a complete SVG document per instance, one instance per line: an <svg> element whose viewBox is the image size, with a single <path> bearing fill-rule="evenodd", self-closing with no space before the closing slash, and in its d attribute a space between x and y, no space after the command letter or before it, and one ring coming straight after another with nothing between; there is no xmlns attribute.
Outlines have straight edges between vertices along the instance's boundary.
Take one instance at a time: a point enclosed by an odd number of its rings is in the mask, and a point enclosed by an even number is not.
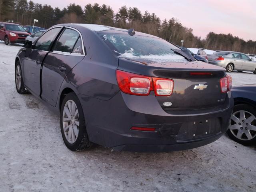
<svg viewBox="0 0 256 192"><path fill-rule="evenodd" d="M256 84L234 86L234 110L228 136L243 145L256 144Z"/></svg>

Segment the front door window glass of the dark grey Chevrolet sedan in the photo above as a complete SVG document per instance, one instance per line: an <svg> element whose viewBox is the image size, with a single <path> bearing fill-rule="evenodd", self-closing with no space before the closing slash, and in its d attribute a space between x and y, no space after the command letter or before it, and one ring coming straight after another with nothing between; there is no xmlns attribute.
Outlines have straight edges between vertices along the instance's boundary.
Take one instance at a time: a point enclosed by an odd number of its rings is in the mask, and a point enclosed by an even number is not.
<svg viewBox="0 0 256 192"><path fill-rule="evenodd" d="M48 51L54 39L60 32L60 29L61 28L54 28L47 31L43 36L41 36L38 39L38 41L36 42L36 45L34 46L34 49Z"/></svg>

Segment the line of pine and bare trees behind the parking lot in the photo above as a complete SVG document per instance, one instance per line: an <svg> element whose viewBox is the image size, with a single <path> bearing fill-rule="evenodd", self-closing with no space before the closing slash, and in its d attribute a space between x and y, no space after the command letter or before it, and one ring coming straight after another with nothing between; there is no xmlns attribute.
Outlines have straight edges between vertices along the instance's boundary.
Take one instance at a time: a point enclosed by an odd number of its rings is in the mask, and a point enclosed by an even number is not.
<svg viewBox="0 0 256 192"><path fill-rule="evenodd" d="M193 34L192 28L186 28L178 21L171 18L161 21L154 13L142 13L138 8L122 6L117 13L106 4L87 4L84 8L80 5L70 4L66 8L53 8L27 0L1 0L0 21L14 21L21 25L32 25L34 19L38 20L36 26L49 28L59 23L89 23L115 26L119 28L134 28L136 31L159 36L180 45L212 50L233 50L244 53L256 54L256 41L245 41L232 34L215 34L210 32L202 40Z"/></svg>

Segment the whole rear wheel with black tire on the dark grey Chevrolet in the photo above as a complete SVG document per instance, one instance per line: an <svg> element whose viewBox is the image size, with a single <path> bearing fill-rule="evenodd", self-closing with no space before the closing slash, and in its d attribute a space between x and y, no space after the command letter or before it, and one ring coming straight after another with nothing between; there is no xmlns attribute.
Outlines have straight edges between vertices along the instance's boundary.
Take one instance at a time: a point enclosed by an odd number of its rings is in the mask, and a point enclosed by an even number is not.
<svg viewBox="0 0 256 192"><path fill-rule="evenodd" d="M70 150L86 150L92 146L86 131L84 112L74 92L67 94L62 102L60 128L64 143Z"/></svg>

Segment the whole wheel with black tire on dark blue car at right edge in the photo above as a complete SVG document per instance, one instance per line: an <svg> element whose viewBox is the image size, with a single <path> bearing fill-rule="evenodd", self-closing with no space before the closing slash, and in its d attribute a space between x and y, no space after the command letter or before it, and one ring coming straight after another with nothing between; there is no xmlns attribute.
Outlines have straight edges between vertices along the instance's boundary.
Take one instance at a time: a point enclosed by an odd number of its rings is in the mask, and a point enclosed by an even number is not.
<svg viewBox="0 0 256 192"><path fill-rule="evenodd" d="M242 115L245 114L245 118L241 118L241 113ZM245 146L256 144L256 108L247 104L235 105L231 119L227 131L228 136ZM252 138L248 138L247 135L252 136Z"/></svg>

